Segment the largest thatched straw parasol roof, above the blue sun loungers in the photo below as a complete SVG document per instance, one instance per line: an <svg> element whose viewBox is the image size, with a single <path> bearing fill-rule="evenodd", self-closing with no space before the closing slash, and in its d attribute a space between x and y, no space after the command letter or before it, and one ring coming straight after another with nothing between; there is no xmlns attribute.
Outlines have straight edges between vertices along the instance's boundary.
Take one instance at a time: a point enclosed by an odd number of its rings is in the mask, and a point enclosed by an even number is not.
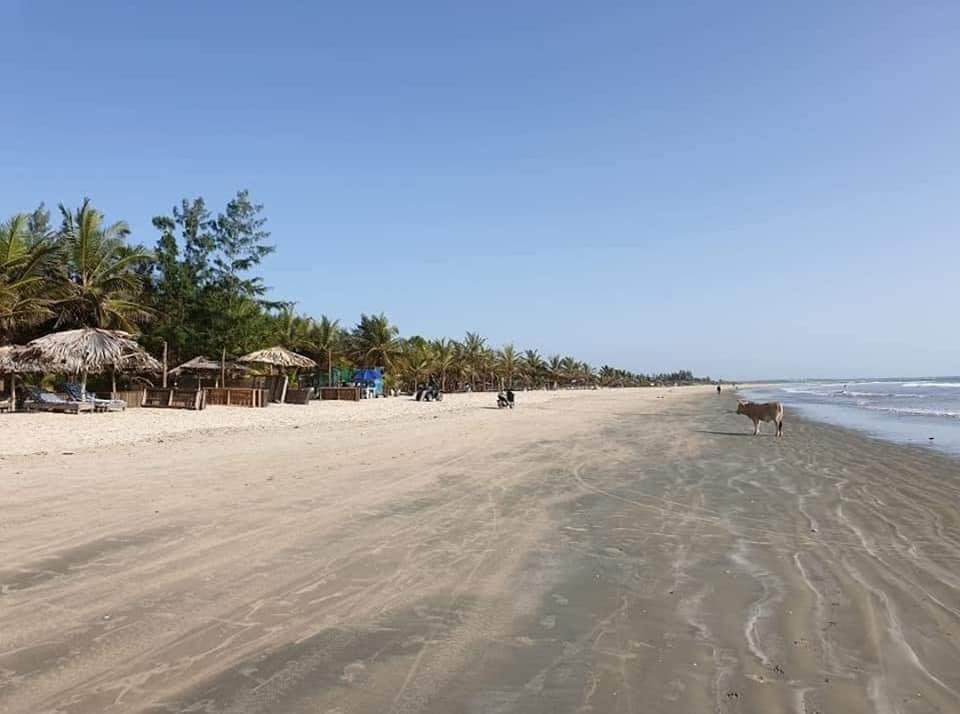
<svg viewBox="0 0 960 714"><path fill-rule="evenodd" d="M86 327L38 337L15 351L17 360L36 363L39 369L68 374L96 374L123 370L124 363L156 362L126 332Z"/></svg>

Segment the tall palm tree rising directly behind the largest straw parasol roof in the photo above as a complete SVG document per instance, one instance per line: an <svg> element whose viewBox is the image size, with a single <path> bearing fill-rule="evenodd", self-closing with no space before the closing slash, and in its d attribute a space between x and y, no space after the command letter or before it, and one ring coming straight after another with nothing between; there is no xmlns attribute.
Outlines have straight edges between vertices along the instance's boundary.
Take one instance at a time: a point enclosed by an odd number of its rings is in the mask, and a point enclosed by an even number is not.
<svg viewBox="0 0 960 714"><path fill-rule="evenodd" d="M130 228L123 221L103 226L103 214L89 199L75 212L62 204L59 233L62 252L57 325L134 329L149 316L138 300L141 280L136 268L149 258L126 244Z"/></svg>

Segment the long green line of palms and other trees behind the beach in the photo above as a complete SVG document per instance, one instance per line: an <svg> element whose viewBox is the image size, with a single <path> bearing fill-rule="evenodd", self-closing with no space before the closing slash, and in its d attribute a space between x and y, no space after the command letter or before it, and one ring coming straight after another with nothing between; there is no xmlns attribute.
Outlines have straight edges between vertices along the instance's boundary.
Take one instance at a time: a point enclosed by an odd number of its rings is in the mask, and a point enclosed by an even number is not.
<svg viewBox="0 0 960 714"><path fill-rule="evenodd" d="M434 380L448 391L706 381L687 370L638 374L512 344L494 348L475 332L401 337L383 314L362 314L349 327L299 314L294 303L268 298L258 269L276 248L263 206L247 191L216 213L202 198L182 200L153 219L152 249L132 243L129 226L108 223L89 200L61 204L56 216L59 226L41 204L0 224L0 345L78 327L120 329L154 355L166 344L175 365L281 344L324 372L383 367L388 387Z"/></svg>

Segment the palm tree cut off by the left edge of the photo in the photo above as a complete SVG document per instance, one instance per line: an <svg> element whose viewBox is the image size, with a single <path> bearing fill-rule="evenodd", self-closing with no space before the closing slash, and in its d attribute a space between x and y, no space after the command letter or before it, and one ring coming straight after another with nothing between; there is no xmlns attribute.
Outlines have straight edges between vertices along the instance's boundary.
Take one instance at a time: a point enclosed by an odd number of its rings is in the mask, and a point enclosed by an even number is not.
<svg viewBox="0 0 960 714"><path fill-rule="evenodd" d="M31 242L30 217L18 214L0 224L0 335L52 316L46 267L50 244Z"/></svg>

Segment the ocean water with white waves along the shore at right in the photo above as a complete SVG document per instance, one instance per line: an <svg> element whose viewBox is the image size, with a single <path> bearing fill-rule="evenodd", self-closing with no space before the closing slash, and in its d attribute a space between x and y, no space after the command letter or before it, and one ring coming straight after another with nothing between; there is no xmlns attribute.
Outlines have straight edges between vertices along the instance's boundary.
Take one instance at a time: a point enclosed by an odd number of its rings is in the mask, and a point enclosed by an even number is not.
<svg viewBox="0 0 960 714"><path fill-rule="evenodd" d="M960 377L761 384L740 393L883 439L960 454Z"/></svg>

